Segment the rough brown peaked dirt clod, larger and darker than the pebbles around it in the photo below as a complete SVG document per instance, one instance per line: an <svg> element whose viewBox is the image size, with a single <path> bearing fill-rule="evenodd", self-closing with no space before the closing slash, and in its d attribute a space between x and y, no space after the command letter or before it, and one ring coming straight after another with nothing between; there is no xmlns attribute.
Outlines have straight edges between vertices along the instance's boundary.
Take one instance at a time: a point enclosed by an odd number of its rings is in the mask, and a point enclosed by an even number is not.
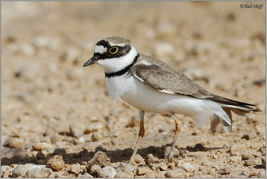
<svg viewBox="0 0 267 179"><path fill-rule="evenodd" d="M100 167L105 167L110 165L110 158L105 152L97 151L93 158L87 163L86 169L90 170L92 165L99 165Z"/></svg>

